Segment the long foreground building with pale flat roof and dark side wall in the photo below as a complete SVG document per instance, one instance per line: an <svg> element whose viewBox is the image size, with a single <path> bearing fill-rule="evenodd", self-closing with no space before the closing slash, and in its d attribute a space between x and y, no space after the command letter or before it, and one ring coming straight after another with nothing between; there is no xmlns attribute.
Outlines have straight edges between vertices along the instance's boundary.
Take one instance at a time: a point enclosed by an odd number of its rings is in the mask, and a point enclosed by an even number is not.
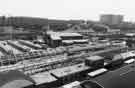
<svg viewBox="0 0 135 88"><path fill-rule="evenodd" d="M85 74L92 68L85 66L84 63L76 64L68 67L58 68L50 70L49 72L59 79L61 83L66 83L70 81L80 80Z"/></svg>

